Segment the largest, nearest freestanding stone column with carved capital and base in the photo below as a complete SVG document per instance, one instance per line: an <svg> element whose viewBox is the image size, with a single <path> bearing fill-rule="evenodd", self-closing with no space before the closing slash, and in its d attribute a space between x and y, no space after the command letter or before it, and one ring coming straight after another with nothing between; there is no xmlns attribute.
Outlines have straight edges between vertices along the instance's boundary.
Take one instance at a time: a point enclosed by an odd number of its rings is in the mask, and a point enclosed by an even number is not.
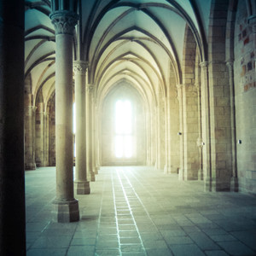
<svg viewBox="0 0 256 256"><path fill-rule="evenodd" d="M73 197L73 30L78 16L69 11L50 15L55 26L55 220L79 220L79 201Z"/></svg>

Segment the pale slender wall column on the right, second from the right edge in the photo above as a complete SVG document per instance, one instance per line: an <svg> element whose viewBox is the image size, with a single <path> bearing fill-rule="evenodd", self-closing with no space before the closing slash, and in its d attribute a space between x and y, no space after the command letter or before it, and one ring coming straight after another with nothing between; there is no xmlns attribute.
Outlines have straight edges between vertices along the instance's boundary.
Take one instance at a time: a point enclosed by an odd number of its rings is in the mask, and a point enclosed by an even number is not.
<svg viewBox="0 0 256 256"><path fill-rule="evenodd" d="M216 189L215 180L212 179L211 166L211 130L210 130L210 99L208 81L208 62L200 63L201 66L201 123L202 123L202 158L203 176L206 191Z"/></svg>

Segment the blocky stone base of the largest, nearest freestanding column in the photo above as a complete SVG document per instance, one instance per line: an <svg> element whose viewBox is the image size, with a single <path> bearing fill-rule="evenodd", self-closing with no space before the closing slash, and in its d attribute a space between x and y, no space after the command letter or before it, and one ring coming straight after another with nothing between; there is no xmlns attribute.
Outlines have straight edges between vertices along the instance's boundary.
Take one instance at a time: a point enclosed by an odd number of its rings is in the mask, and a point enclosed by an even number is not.
<svg viewBox="0 0 256 256"><path fill-rule="evenodd" d="M53 220L60 223L79 221L79 201L53 201Z"/></svg>

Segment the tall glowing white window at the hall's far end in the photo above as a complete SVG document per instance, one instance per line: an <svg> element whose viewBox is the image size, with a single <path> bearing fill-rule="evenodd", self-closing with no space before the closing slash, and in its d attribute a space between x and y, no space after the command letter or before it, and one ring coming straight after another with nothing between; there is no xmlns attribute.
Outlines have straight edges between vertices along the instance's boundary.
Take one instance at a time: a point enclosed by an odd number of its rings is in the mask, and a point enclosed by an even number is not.
<svg viewBox="0 0 256 256"><path fill-rule="evenodd" d="M132 156L132 109L127 100L115 104L115 156Z"/></svg>

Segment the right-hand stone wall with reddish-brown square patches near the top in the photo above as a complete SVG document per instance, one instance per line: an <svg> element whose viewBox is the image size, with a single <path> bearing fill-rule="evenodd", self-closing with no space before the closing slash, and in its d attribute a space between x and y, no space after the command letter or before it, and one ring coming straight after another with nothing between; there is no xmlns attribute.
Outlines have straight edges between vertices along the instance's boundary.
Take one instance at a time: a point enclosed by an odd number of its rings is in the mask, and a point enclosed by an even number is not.
<svg viewBox="0 0 256 256"><path fill-rule="evenodd" d="M237 7L234 44L239 189L256 193L255 33L244 1L239 1Z"/></svg>

